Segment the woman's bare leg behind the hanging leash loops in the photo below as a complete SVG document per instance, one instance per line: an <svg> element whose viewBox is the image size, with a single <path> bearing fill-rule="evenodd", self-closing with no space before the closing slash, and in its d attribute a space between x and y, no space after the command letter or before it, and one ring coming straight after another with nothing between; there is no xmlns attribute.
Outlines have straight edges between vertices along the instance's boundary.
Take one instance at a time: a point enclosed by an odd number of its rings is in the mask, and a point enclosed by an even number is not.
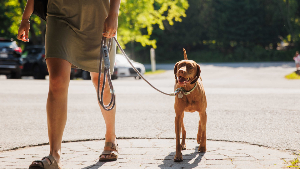
<svg viewBox="0 0 300 169"><path fill-rule="evenodd" d="M98 90L98 76L99 73L95 73L95 72L90 72L91 74L91 79L93 82L93 85L96 89L96 92ZM101 74L101 79L100 79L100 86L102 86L103 84L103 74ZM101 89L100 88L100 93L101 93ZM105 87L104 87L104 92L103 92L103 102L104 105L108 105L111 99L111 93L109 90L109 85L108 85L108 80L106 78L105 81ZM99 104L99 102L98 102ZM105 134L105 141L106 142L112 142L114 144L117 144L117 140L116 140L116 134L115 134L115 117L116 117L116 105L113 108L113 110L110 111L106 111L103 109L103 107L99 104L104 121L105 121L105 125L106 125L106 134ZM104 150L113 150L111 147L105 147ZM105 158L105 157L111 157L111 155L102 155L101 158Z"/></svg>

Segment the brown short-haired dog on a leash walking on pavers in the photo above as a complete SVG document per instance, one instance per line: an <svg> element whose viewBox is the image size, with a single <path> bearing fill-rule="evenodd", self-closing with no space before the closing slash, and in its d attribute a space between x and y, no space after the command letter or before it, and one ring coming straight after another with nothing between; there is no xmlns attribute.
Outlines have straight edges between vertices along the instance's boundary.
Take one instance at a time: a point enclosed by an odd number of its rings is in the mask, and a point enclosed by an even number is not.
<svg viewBox="0 0 300 169"><path fill-rule="evenodd" d="M176 154L174 161L183 161L181 150L186 150L186 131L183 125L184 112L197 111L200 115L197 143L200 144L198 151L206 151L206 96L200 77L200 65L192 60L187 60L187 54L183 49L184 59L177 62L174 67L176 84L174 91L182 88L184 91L175 96L175 133L176 133ZM194 90L192 90L194 89ZM192 90L192 91L191 91ZM190 93L189 93L190 92ZM182 141L180 144L180 129L182 130Z"/></svg>

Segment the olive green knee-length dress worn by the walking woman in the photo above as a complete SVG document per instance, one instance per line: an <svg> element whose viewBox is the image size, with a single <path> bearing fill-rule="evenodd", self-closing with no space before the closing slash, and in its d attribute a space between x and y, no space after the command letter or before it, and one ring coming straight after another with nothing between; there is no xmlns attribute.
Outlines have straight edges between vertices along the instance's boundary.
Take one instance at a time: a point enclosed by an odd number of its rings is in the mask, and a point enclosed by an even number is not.
<svg viewBox="0 0 300 169"><path fill-rule="evenodd" d="M48 0L45 59L65 59L72 68L99 72L100 43L109 5L109 0ZM111 74L115 55L116 43L112 41Z"/></svg>

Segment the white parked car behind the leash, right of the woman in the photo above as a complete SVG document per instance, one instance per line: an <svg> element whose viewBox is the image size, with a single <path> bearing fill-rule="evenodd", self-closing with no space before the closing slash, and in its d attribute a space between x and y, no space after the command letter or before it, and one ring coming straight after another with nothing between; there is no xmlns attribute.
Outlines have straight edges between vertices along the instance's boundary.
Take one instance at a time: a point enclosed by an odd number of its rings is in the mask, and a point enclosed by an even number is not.
<svg viewBox="0 0 300 169"><path fill-rule="evenodd" d="M145 66L143 64L135 62L133 60L131 60L131 62L141 74L144 74L146 72ZM118 68L116 78L134 77L135 79L141 79L122 54L116 54L115 67Z"/></svg>

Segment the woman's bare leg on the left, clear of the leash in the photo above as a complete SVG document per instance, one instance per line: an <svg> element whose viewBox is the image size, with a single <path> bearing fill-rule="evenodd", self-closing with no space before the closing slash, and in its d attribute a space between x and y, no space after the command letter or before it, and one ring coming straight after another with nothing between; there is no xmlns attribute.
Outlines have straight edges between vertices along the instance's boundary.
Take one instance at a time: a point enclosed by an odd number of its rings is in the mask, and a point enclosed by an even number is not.
<svg viewBox="0 0 300 169"><path fill-rule="evenodd" d="M63 131L67 122L71 63L58 58L47 58L46 63L50 83L46 106L50 155L55 158L58 162L58 167L61 169L60 150ZM48 159L46 160L50 164L50 161Z"/></svg>

